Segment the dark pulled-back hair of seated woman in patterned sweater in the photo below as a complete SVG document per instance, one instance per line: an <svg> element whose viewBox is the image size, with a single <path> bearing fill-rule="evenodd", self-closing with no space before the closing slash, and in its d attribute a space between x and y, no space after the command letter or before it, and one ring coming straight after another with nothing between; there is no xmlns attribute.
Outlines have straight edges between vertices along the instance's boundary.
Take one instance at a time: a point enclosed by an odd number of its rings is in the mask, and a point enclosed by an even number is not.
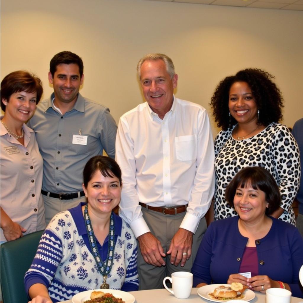
<svg viewBox="0 0 303 303"><path fill-rule="evenodd" d="M117 177L120 185L122 185L122 174L118 163L112 158L99 155L90 158L85 164L83 170L83 184L85 188L87 188L88 182L97 170L99 170L104 177Z"/></svg>

